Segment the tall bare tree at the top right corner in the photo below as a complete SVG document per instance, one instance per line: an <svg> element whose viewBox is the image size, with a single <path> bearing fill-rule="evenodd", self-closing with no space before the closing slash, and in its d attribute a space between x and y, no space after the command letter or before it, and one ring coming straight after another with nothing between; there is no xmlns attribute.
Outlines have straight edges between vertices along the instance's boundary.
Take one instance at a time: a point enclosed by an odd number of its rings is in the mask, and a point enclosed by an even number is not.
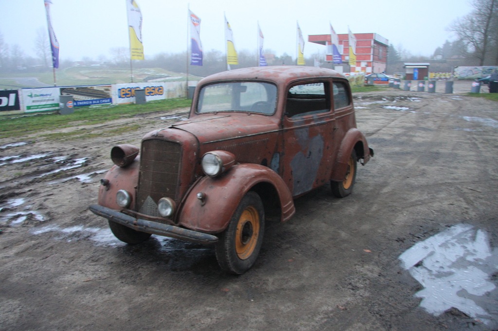
<svg viewBox="0 0 498 331"><path fill-rule="evenodd" d="M498 47L498 0L474 0L474 10L452 23L449 30L469 46L472 55L479 59L479 65L485 65L490 52ZM498 55L492 63L498 64Z"/></svg>

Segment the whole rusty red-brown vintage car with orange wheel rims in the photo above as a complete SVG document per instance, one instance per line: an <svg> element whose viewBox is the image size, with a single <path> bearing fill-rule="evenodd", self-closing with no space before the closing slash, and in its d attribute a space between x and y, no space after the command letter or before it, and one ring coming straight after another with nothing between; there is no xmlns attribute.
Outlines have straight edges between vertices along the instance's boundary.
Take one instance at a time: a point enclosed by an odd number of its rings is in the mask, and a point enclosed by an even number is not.
<svg viewBox="0 0 498 331"><path fill-rule="evenodd" d="M327 183L353 189L357 163L373 156L357 129L348 80L322 68L237 69L202 79L188 119L112 148L98 205L120 240L151 234L215 244L233 274L255 262L265 212L281 221L293 199Z"/></svg>

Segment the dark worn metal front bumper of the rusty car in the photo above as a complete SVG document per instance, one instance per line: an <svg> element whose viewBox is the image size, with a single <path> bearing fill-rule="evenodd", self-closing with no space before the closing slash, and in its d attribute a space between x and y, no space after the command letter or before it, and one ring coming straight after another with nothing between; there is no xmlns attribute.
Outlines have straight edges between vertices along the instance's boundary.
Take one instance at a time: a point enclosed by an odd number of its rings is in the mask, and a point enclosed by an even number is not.
<svg viewBox="0 0 498 331"><path fill-rule="evenodd" d="M103 218L113 221L133 230L140 232L147 232L157 235L163 235L175 239L200 243L212 244L218 241L218 237L213 234L197 232L183 227L163 224L154 221L147 221L142 219L135 219L132 216L120 213L114 209L103 207L100 205L91 205L90 211L95 215L102 216Z"/></svg>

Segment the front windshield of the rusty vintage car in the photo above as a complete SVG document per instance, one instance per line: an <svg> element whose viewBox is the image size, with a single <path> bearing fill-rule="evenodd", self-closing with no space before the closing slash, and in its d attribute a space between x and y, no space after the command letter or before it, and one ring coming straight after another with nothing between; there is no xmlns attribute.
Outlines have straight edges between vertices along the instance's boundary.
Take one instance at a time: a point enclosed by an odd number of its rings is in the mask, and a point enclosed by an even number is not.
<svg viewBox="0 0 498 331"><path fill-rule="evenodd" d="M207 85L199 94L197 112L248 111L272 114L277 88L263 82L230 82Z"/></svg>

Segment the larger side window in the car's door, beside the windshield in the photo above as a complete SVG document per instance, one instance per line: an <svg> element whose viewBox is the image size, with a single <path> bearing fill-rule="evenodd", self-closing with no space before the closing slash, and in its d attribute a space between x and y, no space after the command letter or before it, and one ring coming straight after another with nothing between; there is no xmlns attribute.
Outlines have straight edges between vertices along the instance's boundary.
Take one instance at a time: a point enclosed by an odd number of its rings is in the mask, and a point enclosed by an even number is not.
<svg viewBox="0 0 498 331"><path fill-rule="evenodd" d="M326 82L295 85L287 92L287 117L311 115L330 110L329 87Z"/></svg>

